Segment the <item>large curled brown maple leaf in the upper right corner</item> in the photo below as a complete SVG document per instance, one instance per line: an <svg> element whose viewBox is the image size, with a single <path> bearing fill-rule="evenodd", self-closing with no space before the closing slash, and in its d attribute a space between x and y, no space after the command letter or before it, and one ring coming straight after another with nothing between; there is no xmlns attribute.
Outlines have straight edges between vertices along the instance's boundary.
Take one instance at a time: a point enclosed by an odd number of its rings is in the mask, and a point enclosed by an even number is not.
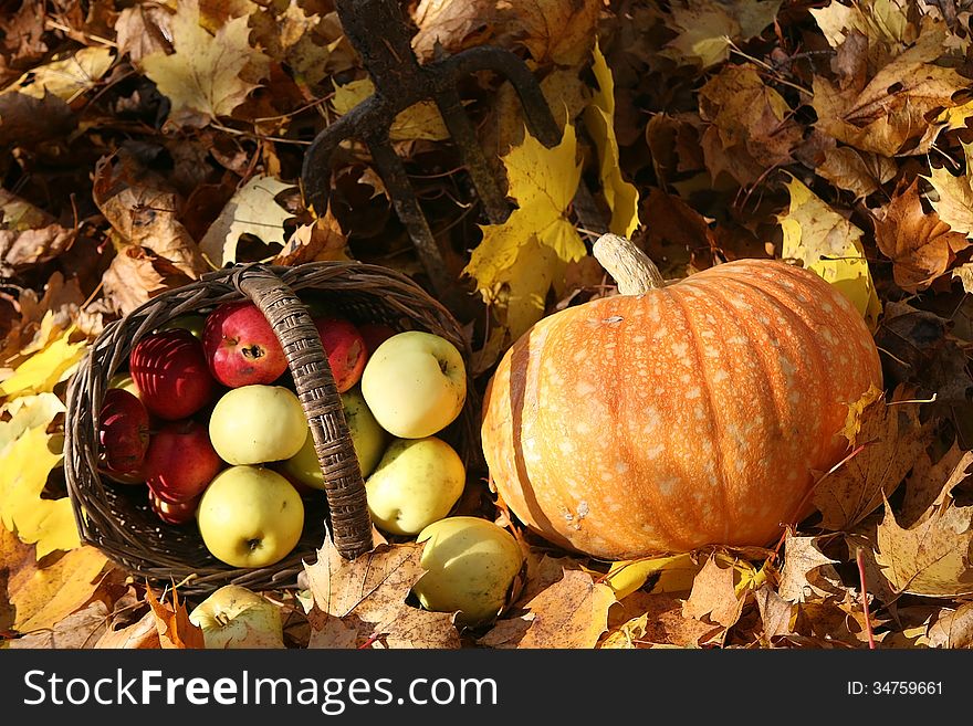
<svg viewBox="0 0 973 726"><path fill-rule="evenodd" d="M851 36L862 38L857 31ZM918 155L929 151L941 125L927 116L954 106L952 96L969 81L950 67L934 64L943 53L945 29L930 27L914 45L892 57L867 80L858 71L865 59L848 57L865 52L865 43L846 40L838 61L855 66L846 86L824 76L814 78L812 105L817 128L839 141L882 156Z"/></svg>

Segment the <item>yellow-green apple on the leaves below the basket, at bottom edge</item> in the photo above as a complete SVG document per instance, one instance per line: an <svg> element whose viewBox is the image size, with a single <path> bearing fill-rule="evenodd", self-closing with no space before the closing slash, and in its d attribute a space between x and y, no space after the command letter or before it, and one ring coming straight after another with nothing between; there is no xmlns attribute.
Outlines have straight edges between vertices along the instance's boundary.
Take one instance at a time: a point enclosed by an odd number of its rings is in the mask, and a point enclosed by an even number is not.
<svg viewBox="0 0 973 726"><path fill-rule="evenodd" d="M284 648L281 611L239 585L224 585L189 613L207 649Z"/></svg>

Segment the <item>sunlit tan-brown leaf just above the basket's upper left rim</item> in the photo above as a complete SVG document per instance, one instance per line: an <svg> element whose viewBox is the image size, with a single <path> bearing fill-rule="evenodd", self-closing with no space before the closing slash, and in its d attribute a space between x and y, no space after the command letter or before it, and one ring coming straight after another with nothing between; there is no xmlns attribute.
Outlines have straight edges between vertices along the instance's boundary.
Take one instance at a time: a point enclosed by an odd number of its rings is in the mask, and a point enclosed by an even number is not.
<svg viewBox="0 0 973 726"><path fill-rule="evenodd" d="M159 293L192 282L185 272L147 248L122 248L103 276L105 298L126 315Z"/></svg>

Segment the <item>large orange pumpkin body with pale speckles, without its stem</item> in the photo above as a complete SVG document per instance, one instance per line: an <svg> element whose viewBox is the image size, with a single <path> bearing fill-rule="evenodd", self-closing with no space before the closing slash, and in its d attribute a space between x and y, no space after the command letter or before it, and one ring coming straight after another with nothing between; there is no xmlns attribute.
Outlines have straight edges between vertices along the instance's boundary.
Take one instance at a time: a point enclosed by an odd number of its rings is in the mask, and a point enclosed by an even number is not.
<svg viewBox="0 0 973 726"><path fill-rule="evenodd" d="M562 547L765 546L810 513L871 386L878 351L840 293L740 260L542 319L490 380L483 452L502 499Z"/></svg>

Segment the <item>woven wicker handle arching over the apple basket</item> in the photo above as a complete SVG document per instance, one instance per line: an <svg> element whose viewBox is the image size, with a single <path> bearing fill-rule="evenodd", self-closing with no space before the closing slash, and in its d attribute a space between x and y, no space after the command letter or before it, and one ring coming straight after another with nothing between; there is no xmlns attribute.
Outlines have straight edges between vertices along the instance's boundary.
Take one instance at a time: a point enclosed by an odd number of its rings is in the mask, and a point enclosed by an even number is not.
<svg viewBox="0 0 973 726"><path fill-rule="evenodd" d="M297 295L266 267L241 267L233 282L260 308L284 349L324 473L328 529L338 553L354 559L372 549L372 518L341 394L317 328Z"/></svg>

